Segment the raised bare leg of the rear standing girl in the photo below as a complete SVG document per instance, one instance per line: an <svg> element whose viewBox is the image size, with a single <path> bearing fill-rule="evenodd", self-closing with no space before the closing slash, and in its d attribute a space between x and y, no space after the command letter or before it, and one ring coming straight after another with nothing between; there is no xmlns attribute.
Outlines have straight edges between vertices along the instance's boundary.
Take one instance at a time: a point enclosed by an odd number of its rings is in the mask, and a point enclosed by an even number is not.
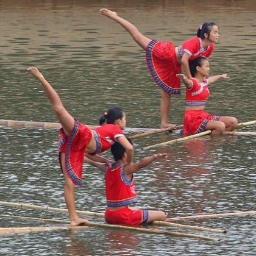
<svg viewBox="0 0 256 256"><path fill-rule="evenodd" d="M141 32L137 29L137 27L135 27L129 21L124 20L124 18L121 18L120 16L117 15L116 12L112 12L111 10L101 9L101 10L99 10L99 13L107 16L108 18L116 21L121 26L123 26L124 29L126 29L127 32L129 32L129 34L132 36L133 40L138 45L140 45L141 48L143 48L146 51L147 46L148 46L149 42L151 41L151 39L149 39L148 37L145 37L143 34L141 34Z"/></svg>

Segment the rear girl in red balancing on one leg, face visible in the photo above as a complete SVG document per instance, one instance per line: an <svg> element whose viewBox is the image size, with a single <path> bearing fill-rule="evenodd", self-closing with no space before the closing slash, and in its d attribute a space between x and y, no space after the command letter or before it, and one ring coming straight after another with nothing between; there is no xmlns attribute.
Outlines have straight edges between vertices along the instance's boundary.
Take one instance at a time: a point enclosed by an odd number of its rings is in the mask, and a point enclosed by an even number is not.
<svg viewBox="0 0 256 256"><path fill-rule="evenodd" d="M115 20L129 32L133 40L146 51L146 60L151 76L161 89L161 128L172 127L168 123L169 108L171 106L171 94L180 94L180 79L176 74L184 69L187 77L190 78L188 60L197 57L209 57L213 51L213 43L218 41L218 27L215 23L204 23L197 30L197 37L185 41L182 45L175 47L172 42L151 40L145 37L132 23L124 20L115 12L108 9L101 9L102 15Z"/></svg>

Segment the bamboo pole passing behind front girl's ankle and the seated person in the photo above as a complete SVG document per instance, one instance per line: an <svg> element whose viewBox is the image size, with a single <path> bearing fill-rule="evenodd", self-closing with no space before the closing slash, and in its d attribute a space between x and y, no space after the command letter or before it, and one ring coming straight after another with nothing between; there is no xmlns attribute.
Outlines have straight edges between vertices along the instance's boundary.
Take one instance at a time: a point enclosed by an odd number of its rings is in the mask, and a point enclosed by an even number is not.
<svg viewBox="0 0 256 256"><path fill-rule="evenodd" d="M15 206L15 207L23 207L23 208L30 208L30 209L37 209L37 210L46 210L46 211L48 210L48 211L54 211L54 212L68 212L67 209L63 209L63 208L44 207L39 205L30 205L30 204L23 204L23 203L19 204L19 203L4 202L4 201L0 201L0 205L9 205L9 206ZM80 215L104 218L104 213L87 212L87 211L81 211L81 210L77 210L77 213L79 213ZM181 224L166 222L166 221L154 221L152 222L152 224L158 225L158 226L177 227L182 229L191 229L191 230L205 231L205 232L226 233L226 230L223 230L223 229L210 229L208 227L181 225Z"/></svg>

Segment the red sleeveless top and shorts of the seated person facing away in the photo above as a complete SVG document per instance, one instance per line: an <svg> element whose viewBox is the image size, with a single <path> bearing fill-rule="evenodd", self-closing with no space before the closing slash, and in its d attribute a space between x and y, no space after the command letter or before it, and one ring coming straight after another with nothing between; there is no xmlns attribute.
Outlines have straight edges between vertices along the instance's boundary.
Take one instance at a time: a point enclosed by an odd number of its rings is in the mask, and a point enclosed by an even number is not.
<svg viewBox="0 0 256 256"><path fill-rule="evenodd" d="M124 207L105 211L105 221L111 224L139 225L148 220L147 210L131 210L128 206L137 202L135 183L127 180L123 166L113 163L105 171L105 194L108 207Z"/></svg>

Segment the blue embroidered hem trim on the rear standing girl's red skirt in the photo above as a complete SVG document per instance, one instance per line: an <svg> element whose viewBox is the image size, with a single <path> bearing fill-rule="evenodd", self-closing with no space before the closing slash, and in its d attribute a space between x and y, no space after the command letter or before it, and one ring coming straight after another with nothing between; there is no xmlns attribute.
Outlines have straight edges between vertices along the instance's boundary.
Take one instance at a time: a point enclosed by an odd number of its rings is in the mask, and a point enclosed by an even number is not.
<svg viewBox="0 0 256 256"><path fill-rule="evenodd" d="M151 73L151 76L153 77L154 81L157 83L159 87L161 87L166 93L169 94L180 94L180 89L175 90L172 88L169 88L157 75L157 72L155 71L154 65L152 63L152 49L154 48L155 44L157 43L157 40L151 40L148 44L148 48L146 49L146 61L149 68L149 73Z"/></svg>

